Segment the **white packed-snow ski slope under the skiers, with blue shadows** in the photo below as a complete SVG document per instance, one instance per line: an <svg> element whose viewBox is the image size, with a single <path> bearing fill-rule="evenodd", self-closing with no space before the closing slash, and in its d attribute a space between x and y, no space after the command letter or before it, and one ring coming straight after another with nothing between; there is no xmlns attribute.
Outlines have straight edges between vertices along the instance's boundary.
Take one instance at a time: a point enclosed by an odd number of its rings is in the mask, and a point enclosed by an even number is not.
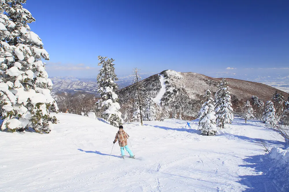
<svg viewBox="0 0 289 192"><path fill-rule="evenodd" d="M253 157L265 153L259 138L270 148L284 144L260 121L234 119L217 136L200 135L197 120L191 129L177 119L125 124L136 159L121 159L117 143L112 150L118 128L52 115L60 122L49 134L0 132L0 191L281 190L255 168Z"/></svg>

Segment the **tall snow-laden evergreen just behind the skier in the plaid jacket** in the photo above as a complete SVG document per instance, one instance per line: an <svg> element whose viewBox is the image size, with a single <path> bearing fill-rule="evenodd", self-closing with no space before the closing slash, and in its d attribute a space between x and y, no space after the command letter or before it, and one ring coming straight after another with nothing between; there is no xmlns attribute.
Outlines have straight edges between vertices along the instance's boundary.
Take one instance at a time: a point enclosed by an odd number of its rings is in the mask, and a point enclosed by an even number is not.
<svg viewBox="0 0 289 192"><path fill-rule="evenodd" d="M112 58L98 56L99 63L102 68L97 75L97 83L99 84L98 92L101 96L98 104L102 111L102 118L106 119L112 126L118 127L123 124L121 118L120 105L118 104L118 96L115 94L117 90L116 74L114 73L114 60Z"/></svg>

